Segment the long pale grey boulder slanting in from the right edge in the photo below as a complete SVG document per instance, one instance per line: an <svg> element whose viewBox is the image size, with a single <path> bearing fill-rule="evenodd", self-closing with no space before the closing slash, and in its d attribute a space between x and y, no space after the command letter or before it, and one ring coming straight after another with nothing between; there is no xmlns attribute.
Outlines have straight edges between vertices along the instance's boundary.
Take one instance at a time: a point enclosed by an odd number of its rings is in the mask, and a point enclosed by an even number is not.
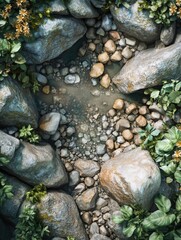
<svg viewBox="0 0 181 240"><path fill-rule="evenodd" d="M148 49L129 60L114 76L113 82L120 92L132 93L160 85L163 80L181 77L181 44L162 49Z"/></svg>

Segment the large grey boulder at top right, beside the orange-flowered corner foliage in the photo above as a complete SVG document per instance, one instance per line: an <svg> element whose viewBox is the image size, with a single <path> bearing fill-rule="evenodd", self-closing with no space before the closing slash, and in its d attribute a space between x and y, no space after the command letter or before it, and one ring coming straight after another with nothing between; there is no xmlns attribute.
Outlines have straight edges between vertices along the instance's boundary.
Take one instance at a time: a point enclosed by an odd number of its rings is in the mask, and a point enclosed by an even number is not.
<svg viewBox="0 0 181 240"><path fill-rule="evenodd" d="M146 43L153 43L159 39L160 26L149 18L149 12L139 11L139 1L129 8L117 8L112 5L110 10L121 32Z"/></svg>

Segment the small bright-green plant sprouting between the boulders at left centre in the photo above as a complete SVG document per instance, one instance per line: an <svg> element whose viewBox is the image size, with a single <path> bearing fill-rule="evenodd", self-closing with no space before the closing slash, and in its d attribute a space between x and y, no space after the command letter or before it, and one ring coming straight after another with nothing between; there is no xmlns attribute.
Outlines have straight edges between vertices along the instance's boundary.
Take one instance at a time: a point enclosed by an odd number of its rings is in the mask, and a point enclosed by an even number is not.
<svg viewBox="0 0 181 240"><path fill-rule="evenodd" d="M35 130L31 125L28 125L27 127L23 126L19 130L19 138L27 140L30 143L39 143L40 141L40 136L35 133Z"/></svg>

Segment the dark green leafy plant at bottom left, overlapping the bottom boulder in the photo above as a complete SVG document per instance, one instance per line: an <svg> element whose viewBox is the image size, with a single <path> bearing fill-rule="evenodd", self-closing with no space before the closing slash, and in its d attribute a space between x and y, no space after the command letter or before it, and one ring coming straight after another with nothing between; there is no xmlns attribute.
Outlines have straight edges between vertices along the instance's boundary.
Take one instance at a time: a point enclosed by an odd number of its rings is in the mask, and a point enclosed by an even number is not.
<svg viewBox="0 0 181 240"><path fill-rule="evenodd" d="M16 240L42 240L48 233L48 227L38 217L38 209L34 205L26 206L16 225Z"/></svg>

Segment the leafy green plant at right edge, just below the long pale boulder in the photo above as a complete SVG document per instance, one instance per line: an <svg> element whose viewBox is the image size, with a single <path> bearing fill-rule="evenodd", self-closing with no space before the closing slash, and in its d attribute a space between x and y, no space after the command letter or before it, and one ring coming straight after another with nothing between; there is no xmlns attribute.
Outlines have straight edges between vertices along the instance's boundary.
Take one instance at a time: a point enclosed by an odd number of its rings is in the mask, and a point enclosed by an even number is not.
<svg viewBox="0 0 181 240"><path fill-rule="evenodd" d="M160 90L151 88L144 93L150 95L149 105L156 102L170 118L174 118L174 114L181 107L181 81L179 80L163 81Z"/></svg>

